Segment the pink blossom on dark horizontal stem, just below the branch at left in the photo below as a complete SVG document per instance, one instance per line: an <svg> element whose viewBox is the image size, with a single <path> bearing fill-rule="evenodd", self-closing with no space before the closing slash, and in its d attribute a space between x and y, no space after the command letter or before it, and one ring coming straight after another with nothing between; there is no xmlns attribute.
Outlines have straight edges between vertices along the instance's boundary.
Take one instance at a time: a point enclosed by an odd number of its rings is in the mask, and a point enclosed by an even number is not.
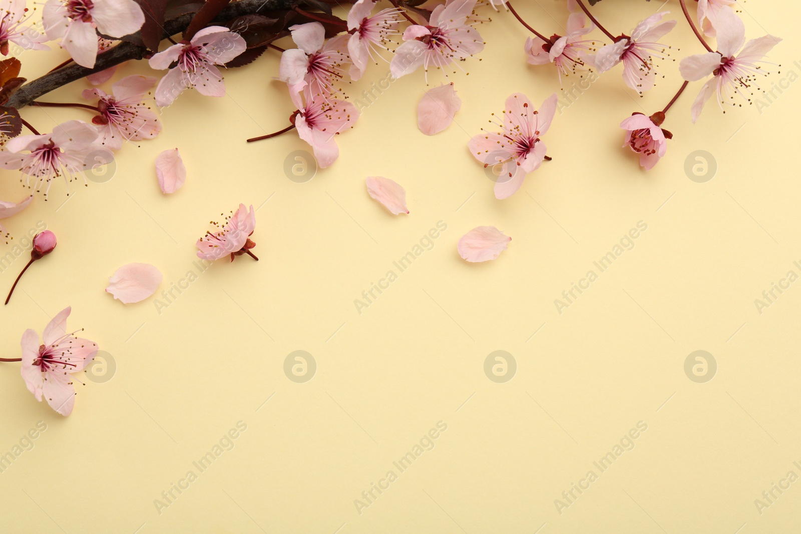
<svg viewBox="0 0 801 534"><path fill-rule="evenodd" d="M156 79L133 74L115 82L111 94L101 89L86 89L83 98L99 98L100 114L92 118L100 132L99 143L118 151L123 141L153 139L161 131L161 122L143 102Z"/></svg>

